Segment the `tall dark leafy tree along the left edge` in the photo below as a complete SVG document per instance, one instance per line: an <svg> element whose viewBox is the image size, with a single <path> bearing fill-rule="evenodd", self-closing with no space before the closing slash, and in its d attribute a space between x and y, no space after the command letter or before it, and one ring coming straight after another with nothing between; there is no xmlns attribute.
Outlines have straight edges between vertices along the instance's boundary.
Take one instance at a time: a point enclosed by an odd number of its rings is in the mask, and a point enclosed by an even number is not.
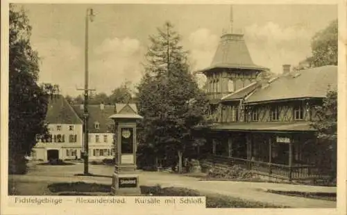
<svg viewBox="0 0 347 215"><path fill-rule="evenodd" d="M38 55L31 47L31 26L24 10L10 5L8 172L25 173L25 154L36 136L46 134L48 98L37 85Z"/></svg>

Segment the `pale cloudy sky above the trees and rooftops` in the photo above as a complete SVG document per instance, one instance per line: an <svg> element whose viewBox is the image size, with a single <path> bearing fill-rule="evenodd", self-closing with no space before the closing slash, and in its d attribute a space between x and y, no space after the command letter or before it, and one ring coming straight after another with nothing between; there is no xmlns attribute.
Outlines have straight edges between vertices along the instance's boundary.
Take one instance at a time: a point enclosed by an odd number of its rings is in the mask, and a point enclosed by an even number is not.
<svg viewBox="0 0 347 215"><path fill-rule="evenodd" d="M230 5L210 4L19 4L31 26L31 45L40 56L40 82L55 83L62 95L81 95L84 87L85 13L89 25L90 88L110 94L142 77L149 36L165 21L174 24L189 50L193 70L208 67L223 29L230 26ZM235 31L242 31L253 62L281 73L310 56L310 41L337 19L333 5L234 5ZM202 85L205 77L198 77Z"/></svg>

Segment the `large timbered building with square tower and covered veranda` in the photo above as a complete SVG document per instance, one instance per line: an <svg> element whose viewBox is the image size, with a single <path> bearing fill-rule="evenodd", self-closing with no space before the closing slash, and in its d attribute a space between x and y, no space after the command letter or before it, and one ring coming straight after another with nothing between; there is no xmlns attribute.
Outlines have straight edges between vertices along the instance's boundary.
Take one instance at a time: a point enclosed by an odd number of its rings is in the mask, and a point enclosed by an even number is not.
<svg viewBox="0 0 347 215"><path fill-rule="evenodd" d="M290 67L266 79L262 74L269 70L253 63L242 34L221 36L211 66L201 70L213 122L196 132L207 141L205 164L240 164L280 180L324 177L313 165L310 123L328 90L337 89L337 66L295 72Z"/></svg>

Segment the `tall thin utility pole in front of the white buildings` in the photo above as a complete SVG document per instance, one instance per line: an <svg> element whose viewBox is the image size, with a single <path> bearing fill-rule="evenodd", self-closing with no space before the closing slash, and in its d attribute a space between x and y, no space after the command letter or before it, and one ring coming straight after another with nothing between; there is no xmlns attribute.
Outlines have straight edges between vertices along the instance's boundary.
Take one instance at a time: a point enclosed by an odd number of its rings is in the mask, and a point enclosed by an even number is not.
<svg viewBox="0 0 347 215"><path fill-rule="evenodd" d="M85 15L85 88L84 89L78 89L84 91L84 113L83 113L83 119L84 119L84 175L89 175L88 170L88 157L89 157L89 145L88 145L88 93L92 90L88 88L88 33L89 33L89 22L93 22L94 14L93 9L88 8L87 13Z"/></svg>

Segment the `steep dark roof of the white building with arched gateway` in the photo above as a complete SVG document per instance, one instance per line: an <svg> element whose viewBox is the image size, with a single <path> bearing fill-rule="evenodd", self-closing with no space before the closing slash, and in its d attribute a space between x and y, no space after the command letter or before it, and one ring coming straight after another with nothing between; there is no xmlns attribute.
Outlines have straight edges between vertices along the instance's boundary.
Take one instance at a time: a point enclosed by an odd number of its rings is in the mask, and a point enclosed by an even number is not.
<svg viewBox="0 0 347 215"><path fill-rule="evenodd" d="M49 124L83 124L69 102L62 95L49 97L46 113L46 122Z"/></svg>

